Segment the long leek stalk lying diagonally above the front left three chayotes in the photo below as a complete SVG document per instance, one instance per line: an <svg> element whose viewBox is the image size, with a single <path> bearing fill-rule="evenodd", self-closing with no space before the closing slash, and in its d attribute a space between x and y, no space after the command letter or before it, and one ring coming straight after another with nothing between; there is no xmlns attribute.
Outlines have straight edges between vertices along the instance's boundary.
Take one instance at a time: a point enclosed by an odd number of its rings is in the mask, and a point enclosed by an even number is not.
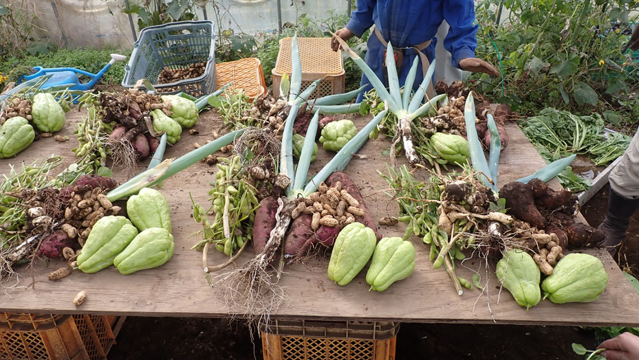
<svg viewBox="0 0 639 360"><path fill-rule="evenodd" d="M156 183L160 183L161 181L164 181L164 179L177 174L177 172L180 172L189 166L196 164L208 155L215 153L223 146L227 146L233 142L236 137L239 137L244 130L245 129L232 131L231 133L221 136L218 139L213 140L213 142L201 146L190 153L182 155L173 161L171 161L171 159L166 159L158 166L141 172L126 183L123 183L117 188L111 190L107 194L107 198L109 198L109 201L113 202L122 199L123 197L137 194L138 191L142 190L142 188L147 188L155 185Z"/></svg>

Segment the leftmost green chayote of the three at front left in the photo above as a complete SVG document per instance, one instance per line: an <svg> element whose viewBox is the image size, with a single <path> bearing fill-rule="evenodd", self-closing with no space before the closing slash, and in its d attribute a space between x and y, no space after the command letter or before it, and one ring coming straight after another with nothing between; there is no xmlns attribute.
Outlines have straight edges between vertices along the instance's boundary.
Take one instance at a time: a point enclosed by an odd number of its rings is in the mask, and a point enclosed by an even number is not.
<svg viewBox="0 0 639 360"><path fill-rule="evenodd" d="M124 216L105 216L91 229L78 255L78 268L95 273L113 265L113 259L138 235L138 229Z"/></svg>

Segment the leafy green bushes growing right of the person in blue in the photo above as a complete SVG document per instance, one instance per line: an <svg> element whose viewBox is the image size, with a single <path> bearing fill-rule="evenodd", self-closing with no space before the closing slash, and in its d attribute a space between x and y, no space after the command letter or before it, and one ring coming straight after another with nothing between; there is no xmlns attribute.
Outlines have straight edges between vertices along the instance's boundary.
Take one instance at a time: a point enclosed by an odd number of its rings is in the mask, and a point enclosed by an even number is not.
<svg viewBox="0 0 639 360"><path fill-rule="evenodd" d="M510 15L496 25L499 3ZM629 91L628 68L637 67L621 49L629 14L638 8L626 0L481 1L477 57L501 65L503 84L475 74L475 89L521 113L547 106L583 111L608 102Z"/></svg>

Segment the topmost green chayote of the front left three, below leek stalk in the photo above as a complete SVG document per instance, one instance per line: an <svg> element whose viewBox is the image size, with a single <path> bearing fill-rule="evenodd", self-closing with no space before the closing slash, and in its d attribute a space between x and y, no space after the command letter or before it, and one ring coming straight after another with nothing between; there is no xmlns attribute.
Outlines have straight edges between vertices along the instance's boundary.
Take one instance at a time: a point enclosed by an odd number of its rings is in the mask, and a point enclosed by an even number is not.
<svg viewBox="0 0 639 360"><path fill-rule="evenodd" d="M158 190L143 188L131 196L127 201L127 215L141 232L151 227L163 227L171 232L169 201Z"/></svg>

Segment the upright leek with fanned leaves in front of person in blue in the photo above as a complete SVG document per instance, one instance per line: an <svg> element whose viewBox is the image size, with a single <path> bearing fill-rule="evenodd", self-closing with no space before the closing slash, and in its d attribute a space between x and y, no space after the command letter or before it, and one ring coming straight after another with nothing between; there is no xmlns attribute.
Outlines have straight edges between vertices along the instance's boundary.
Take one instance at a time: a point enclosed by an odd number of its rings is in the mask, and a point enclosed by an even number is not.
<svg viewBox="0 0 639 360"><path fill-rule="evenodd" d="M404 94L402 95L402 93L400 93L400 82L397 74L395 56L393 54L393 45L391 45L391 43L388 43L386 50L386 68L388 71L389 79L389 93L380 79L364 62L364 60L362 60L362 58L360 58L355 52L353 52L353 50L350 49L350 47L345 41L343 41L342 38L336 36L335 34L333 35L334 38L336 38L337 41L340 43L342 48L345 49L345 52L351 57L351 59L353 59L358 67L362 69L362 72L370 80L371 85L373 85L373 88L375 88L378 95L387 106L387 109L389 109L389 111L391 111L391 113L393 113L393 115L397 117L398 132L402 137L404 152L406 153L406 157L409 162L411 164L420 162L420 157L415 150L415 146L413 146L413 133L411 130L412 122L415 117L421 116L430 109L435 109L435 106L437 106L437 101L446 96L439 95L433 99L429 99L426 104L422 105L422 98L424 98L425 89L429 86L429 83L432 81L433 74L435 73L436 61L433 60L433 63L431 63L429 69L426 71L426 76L424 76L424 80L422 80L420 88L418 89L418 91L415 92L412 100L410 100L410 94L411 90L413 89L413 83L415 82L415 76L419 64L419 61L417 59L413 61L413 66L409 71L407 81L404 83Z"/></svg>

